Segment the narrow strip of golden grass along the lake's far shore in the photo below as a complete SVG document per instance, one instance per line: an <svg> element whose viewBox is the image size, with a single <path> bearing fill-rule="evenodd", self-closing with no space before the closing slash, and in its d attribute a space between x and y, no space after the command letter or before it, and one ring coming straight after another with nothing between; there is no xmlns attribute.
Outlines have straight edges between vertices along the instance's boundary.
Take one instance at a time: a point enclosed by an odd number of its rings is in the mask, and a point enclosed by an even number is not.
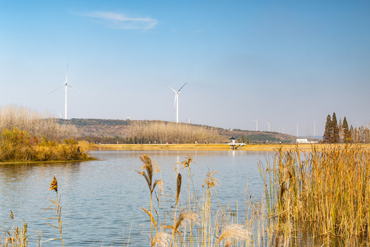
<svg viewBox="0 0 370 247"><path fill-rule="evenodd" d="M302 151L312 150L312 147L321 150L329 148L333 144L248 144L240 150L243 151L273 151L278 148L283 150L298 148ZM345 144L336 144L344 147ZM355 144L352 144L355 145ZM370 150L370 144L359 144L362 148ZM230 150L228 144L101 144L96 145L98 149L103 150Z"/></svg>

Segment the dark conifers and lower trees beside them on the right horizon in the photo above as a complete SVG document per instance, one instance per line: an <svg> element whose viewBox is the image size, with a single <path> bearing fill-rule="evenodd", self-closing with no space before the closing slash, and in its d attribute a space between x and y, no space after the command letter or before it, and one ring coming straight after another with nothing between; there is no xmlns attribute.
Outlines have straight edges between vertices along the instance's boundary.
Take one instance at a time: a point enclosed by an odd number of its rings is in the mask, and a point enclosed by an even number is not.
<svg viewBox="0 0 370 247"><path fill-rule="evenodd" d="M325 131L323 134L324 143L369 143L369 126L349 127L347 118L336 120L336 114L333 113L326 117Z"/></svg>

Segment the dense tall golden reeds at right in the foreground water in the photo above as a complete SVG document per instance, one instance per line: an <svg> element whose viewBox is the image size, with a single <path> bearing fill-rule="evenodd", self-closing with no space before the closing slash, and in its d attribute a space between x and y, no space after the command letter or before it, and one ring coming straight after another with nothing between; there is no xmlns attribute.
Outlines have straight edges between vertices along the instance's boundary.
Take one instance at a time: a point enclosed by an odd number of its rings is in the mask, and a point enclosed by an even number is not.
<svg viewBox="0 0 370 247"><path fill-rule="evenodd" d="M260 173L278 231L305 229L312 236L369 239L370 152L336 145L318 152L277 150Z"/></svg>

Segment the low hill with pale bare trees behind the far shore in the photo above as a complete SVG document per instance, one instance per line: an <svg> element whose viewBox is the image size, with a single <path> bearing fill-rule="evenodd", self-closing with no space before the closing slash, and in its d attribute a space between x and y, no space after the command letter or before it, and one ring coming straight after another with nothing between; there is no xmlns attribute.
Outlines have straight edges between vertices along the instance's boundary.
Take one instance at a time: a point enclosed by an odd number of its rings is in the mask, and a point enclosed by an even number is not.
<svg viewBox="0 0 370 247"><path fill-rule="evenodd" d="M277 132L227 130L158 120L58 119L58 124L72 126L79 139L97 143L224 143L230 137L245 143L295 141L295 137Z"/></svg>

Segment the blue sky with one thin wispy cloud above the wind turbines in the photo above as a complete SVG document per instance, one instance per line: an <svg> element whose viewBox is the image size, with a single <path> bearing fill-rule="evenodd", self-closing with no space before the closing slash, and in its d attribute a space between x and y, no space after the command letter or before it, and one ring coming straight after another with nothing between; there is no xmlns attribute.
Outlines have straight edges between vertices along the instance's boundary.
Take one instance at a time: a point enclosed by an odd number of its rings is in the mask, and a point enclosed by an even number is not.
<svg viewBox="0 0 370 247"><path fill-rule="evenodd" d="M0 106L322 135L370 121L370 1L0 0Z"/></svg>

